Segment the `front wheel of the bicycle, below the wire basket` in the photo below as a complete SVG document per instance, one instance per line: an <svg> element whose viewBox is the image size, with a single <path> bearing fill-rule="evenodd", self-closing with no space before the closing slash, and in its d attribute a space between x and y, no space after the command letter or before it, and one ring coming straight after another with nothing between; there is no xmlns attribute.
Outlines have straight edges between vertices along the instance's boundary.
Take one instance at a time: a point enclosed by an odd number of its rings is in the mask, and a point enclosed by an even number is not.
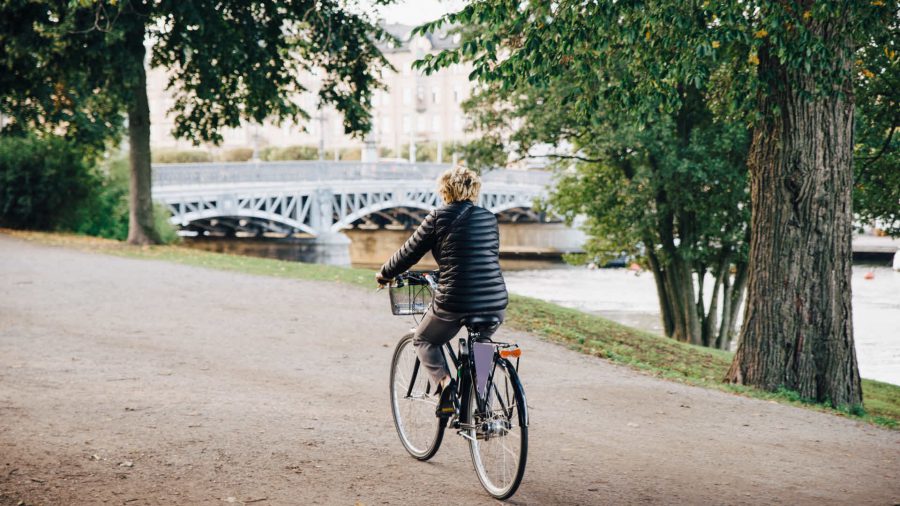
<svg viewBox="0 0 900 506"><path fill-rule="evenodd" d="M444 424L434 416L435 385L419 366L410 332L400 339L391 362L391 412L400 442L410 455L428 460L437 453L444 438Z"/></svg>

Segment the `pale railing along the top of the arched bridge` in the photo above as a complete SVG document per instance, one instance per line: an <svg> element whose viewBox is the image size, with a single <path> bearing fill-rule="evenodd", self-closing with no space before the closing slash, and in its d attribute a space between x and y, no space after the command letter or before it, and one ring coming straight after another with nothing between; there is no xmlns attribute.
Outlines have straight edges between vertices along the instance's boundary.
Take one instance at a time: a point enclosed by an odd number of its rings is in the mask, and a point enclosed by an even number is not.
<svg viewBox="0 0 900 506"><path fill-rule="evenodd" d="M316 182L339 180L435 180L449 164L360 162L236 162L153 165L153 186ZM501 169L483 176L485 183L547 185L551 174L536 170Z"/></svg>

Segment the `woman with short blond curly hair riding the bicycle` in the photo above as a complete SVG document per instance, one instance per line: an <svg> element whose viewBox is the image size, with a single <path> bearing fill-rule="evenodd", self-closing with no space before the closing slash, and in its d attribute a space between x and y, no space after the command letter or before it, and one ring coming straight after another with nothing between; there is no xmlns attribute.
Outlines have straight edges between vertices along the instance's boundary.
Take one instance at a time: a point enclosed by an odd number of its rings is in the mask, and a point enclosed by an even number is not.
<svg viewBox="0 0 900 506"><path fill-rule="evenodd" d="M469 169L456 167L441 174L438 192L445 205L428 213L413 235L375 274L379 284L387 284L428 251L438 264L440 277L434 301L413 340L419 361L437 385L438 416L453 413L455 388L443 346L469 316L496 316L502 322L508 302L500 272L497 218L475 205L480 189L481 179ZM482 338L490 337L496 329L483 330Z"/></svg>

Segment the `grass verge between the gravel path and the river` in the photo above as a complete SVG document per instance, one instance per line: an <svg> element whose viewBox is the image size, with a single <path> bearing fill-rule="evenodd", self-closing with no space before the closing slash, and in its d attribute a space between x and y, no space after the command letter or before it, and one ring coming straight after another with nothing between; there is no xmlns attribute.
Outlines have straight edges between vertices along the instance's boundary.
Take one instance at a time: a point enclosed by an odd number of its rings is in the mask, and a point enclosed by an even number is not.
<svg viewBox="0 0 900 506"><path fill-rule="evenodd" d="M292 279L337 281L372 288L373 272L326 265L285 262L264 258L209 253L177 246L133 247L117 241L84 236L2 230L15 237L44 244L135 258L165 260L211 269ZM387 309L387 304L385 304ZM800 404L794 392L764 392L722 383L731 354L691 346L626 327L599 316L541 300L512 296L507 323L517 329L626 364L647 373L693 385L715 388L755 398ZM880 425L900 427L900 386L863 380L866 414L861 418ZM821 405L815 409L838 413ZM846 413L841 413L847 416Z"/></svg>

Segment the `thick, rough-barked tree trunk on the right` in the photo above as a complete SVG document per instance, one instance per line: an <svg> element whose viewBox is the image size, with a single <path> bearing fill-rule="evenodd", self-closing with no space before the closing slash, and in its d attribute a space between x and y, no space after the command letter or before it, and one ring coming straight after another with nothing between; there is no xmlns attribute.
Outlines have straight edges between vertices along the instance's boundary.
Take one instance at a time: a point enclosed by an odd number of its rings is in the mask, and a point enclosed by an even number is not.
<svg viewBox="0 0 900 506"><path fill-rule="evenodd" d="M843 22L812 29L827 37L835 69L846 72ZM750 149L747 311L727 380L860 406L850 306L850 86L844 83L843 96L810 98L812 76L784 67L765 47L759 56L764 82L780 84L760 98Z"/></svg>

